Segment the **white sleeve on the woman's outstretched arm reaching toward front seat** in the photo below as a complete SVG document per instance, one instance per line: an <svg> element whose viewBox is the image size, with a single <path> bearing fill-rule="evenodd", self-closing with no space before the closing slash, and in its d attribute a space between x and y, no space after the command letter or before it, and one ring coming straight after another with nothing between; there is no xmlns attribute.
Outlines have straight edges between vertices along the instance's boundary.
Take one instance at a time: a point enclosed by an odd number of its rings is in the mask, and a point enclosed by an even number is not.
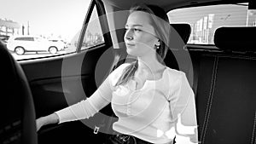
<svg viewBox="0 0 256 144"><path fill-rule="evenodd" d="M108 78L104 80L101 86L96 89L95 93L90 95L86 100L55 112L59 117L59 124L90 118L103 107L106 107L112 100L113 81L119 78L125 66L127 66L127 64L123 64L114 70Z"/></svg>

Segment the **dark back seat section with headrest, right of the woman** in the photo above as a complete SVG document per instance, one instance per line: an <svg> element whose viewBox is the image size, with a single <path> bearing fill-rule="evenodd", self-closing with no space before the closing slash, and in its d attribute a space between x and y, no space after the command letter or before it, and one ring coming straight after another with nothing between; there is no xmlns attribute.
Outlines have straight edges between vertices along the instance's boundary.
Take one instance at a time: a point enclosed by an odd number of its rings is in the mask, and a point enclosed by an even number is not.
<svg viewBox="0 0 256 144"><path fill-rule="evenodd" d="M222 52L197 52L196 94L202 144L255 143L256 27L221 27L214 43Z"/></svg>

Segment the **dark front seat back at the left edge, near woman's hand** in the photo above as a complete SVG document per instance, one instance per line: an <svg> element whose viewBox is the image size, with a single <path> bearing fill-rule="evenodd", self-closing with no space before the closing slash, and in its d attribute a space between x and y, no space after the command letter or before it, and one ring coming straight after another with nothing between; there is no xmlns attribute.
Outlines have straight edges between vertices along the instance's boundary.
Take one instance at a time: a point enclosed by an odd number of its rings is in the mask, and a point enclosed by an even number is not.
<svg viewBox="0 0 256 144"><path fill-rule="evenodd" d="M26 76L0 43L0 143L37 144L32 92Z"/></svg>

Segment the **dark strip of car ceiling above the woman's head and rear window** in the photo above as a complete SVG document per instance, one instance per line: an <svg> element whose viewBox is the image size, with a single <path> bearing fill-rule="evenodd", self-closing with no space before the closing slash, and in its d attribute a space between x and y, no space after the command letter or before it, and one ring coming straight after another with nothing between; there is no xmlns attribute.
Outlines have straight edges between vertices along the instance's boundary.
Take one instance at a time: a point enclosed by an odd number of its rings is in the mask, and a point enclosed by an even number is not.
<svg viewBox="0 0 256 144"><path fill-rule="evenodd" d="M166 12L181 7L189 7L191 5L207 5L220 3L247 3L249 0L103 0L120 9L129 9L134 3L157 4Z"/></svg>

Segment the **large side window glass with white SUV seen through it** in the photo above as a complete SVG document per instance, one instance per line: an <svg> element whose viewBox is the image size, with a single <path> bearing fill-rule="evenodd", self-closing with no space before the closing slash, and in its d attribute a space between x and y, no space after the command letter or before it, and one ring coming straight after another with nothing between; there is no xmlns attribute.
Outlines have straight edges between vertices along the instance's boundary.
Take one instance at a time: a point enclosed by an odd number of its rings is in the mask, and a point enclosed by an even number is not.
<svg viewBox="0 0 256 144"><path fill-rule="evenodd" d="M16 60L75 52L74 43L79 39L89 5L90 0L6 1L0 9L0 42ZM54 45L57 52L51 54L49 45ZM16 53L17 47L25 53Z"/></svg>

